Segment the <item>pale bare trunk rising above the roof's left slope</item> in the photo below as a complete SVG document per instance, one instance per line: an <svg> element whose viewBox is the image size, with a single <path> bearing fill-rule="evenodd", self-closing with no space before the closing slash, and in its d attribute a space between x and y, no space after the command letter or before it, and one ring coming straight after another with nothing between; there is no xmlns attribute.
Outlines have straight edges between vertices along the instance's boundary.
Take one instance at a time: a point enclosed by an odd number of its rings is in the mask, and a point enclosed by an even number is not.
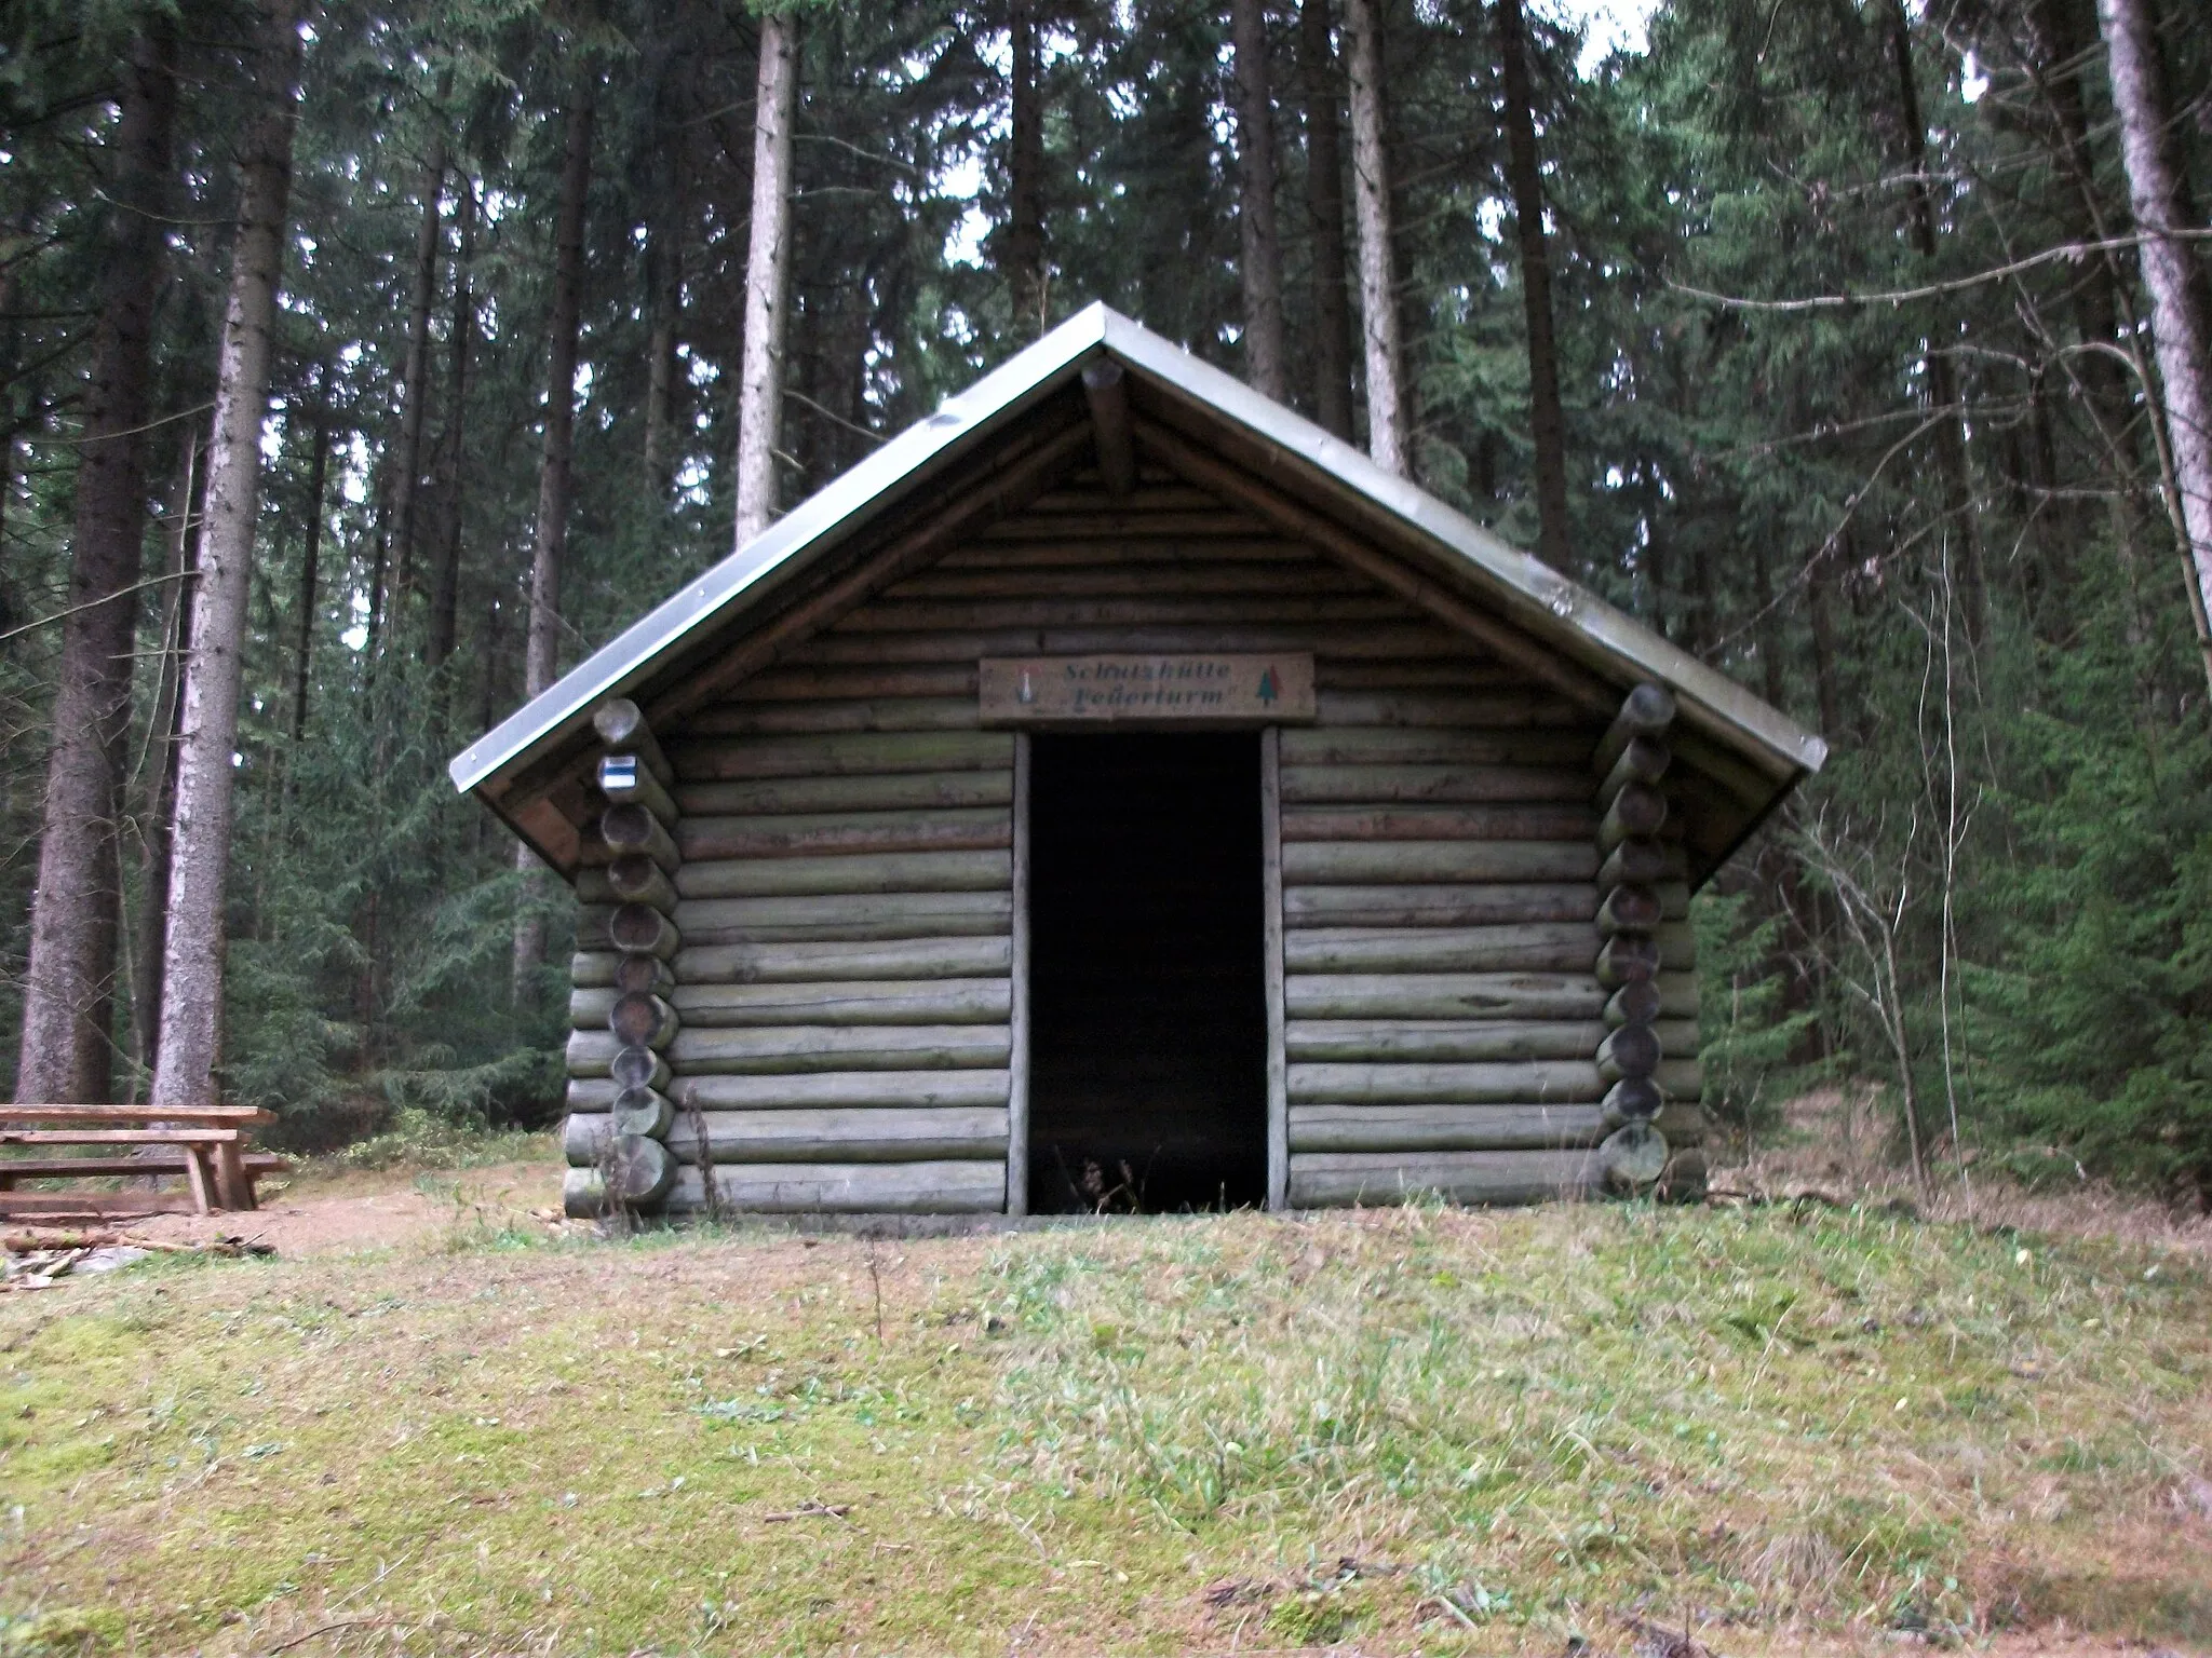
<svg viewBox="0 0 2212 1658"><path fill-rule="evenodd" d="M737 544L776 517L783 433L783 314L792 274L792 115L799 106L799 24L761 18L752 126L752 239L745 248L745 354L737 389Z"/></svg>

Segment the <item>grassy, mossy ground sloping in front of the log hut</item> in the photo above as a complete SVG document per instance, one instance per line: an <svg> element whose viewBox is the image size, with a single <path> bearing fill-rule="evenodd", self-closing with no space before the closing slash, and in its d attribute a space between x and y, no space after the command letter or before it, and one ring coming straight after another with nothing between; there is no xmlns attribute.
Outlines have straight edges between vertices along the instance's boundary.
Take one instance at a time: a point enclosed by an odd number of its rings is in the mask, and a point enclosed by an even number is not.
<svg viewBox="0 0 2212 1658"><path fill-rule="evenodd" d="M2212 1647L2157 1211L608 1240L555 1161L0 1295L0 1654Z"/></svg>

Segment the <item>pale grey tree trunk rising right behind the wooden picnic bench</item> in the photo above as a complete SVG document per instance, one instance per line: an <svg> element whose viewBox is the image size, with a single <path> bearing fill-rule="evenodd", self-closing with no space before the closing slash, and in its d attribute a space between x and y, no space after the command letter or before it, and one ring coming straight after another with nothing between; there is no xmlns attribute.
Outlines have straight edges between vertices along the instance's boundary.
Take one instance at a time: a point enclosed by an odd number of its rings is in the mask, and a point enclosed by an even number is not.
<svg viewBox="0 0 2212 1658"><path fill-rule="evenodd" d="M223 1046L223 889L239 741L246 599L261 502L261 420L268 413L276 279L283 267L299 126L296 0L270 0L261 27L263 108L246 135L230 303L208 444L208 528L192 592L192 652L184 670L177 831L161 951L161 1048L155 1105L208 1105Z"/></svg>

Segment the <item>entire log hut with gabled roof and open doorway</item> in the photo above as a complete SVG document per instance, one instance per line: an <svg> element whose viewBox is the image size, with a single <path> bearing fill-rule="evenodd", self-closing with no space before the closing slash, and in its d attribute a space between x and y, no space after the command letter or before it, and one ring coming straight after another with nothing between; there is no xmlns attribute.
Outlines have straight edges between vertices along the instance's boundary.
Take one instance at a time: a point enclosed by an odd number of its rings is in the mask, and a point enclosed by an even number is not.
<svg viewBox="0 0 2212 1658"><path fill-rule="evenodd" d="M451 769L582 900L573 1211L1024 1214L1692 1183L1823 756L1091 307Z"/></svg>

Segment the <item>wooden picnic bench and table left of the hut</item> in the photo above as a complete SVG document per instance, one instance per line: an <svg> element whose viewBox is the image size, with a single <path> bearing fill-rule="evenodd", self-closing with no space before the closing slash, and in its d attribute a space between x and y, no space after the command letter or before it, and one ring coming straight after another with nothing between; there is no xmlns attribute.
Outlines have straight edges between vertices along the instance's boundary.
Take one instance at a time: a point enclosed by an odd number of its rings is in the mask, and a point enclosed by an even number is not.
<svg viewBox="0 0 2212 1658"><path fill-rule="evenodd" d="M15 1180L53 1180L95 1174L181 1174L192 1209L252 1209L254 1180L290 1165L268 1152L246 1152L246 1130L274 1121L274 1112L252 1105L0 1105L0 1145L91 1145L146 1147L135 1156L0 1158L0 1214L33 1214L55 1207L122 1207L95 1203L95 1194L18 1194ZM161 1147L161 1150L155 1150ZM53 1198L62 1198L55 1203Z"/></svg>

